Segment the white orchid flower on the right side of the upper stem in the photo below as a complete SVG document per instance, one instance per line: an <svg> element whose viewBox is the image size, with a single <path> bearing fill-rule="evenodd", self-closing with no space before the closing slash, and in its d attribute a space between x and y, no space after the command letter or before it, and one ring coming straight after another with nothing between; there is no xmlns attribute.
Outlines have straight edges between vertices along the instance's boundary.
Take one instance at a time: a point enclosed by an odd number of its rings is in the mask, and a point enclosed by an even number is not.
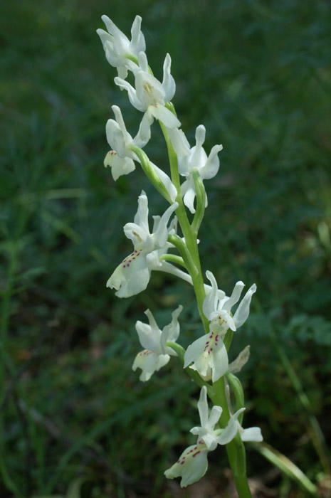
<svg viewBox="0 0 331 498"><path fill-rule="evenodd" d="M174 151L178 156L179 173L186 177L186 180L181 186L184 204L189 208L191 213L195 213L194 198L196 196L196 189L192 171L197 169L202 180L214 178L217 171L219 171L219 157L217 154L223 149L223 146L214 145L209 157L207 157L204 147L202 147L206 137L206 128L203 124L200 124L200 126L196 128L196 144L194 147L191 147L191 149L182 129L168 129L168 133Z"/></svg>

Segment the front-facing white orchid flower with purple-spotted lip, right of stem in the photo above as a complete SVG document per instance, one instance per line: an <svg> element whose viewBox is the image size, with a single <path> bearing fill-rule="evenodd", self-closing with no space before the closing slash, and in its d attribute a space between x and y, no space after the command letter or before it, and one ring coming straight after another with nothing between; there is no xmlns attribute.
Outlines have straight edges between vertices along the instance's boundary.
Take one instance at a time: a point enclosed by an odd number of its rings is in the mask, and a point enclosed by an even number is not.
<svg viewBox="0 0 331 498"><path fill-rule="evenodd" d="M236 313L231 317L231 307L241 297L243 282L237 282L231 297L223 295L217 287L214 275L207 271L206 276L211 282L211 289L206 295L203 304L203 311L206 318L211 322L209 325L209 334L204 334L196 339L185 351L184 368L190 366L191 369L199 371L205 379L211 377L216 382L221 376L224 376L228 369L228 353L224 346L224 336L228 329L235 331L238 327L246 322L249 314L251 297L256 292L256 285L253 284L246 292L245 297L236 309Z"/></svg>

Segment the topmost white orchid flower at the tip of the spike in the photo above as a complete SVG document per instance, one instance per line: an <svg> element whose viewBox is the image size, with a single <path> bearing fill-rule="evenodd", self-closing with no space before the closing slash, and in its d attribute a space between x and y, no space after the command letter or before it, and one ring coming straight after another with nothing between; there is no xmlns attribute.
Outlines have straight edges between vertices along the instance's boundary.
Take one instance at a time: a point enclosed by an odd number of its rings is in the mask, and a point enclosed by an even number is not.
<svg viewBox="0 0 331 498"><path fill-rule="evenodd" d="M109 17L102 16L101 18L108 33L103 29L97 29L97 33L103 43L107 61L114 68L117 68L118 75L121 78L126 78L128 69L135 73L138 68L137 64L130 59L137 59L138 54L145 52L146 49L145 38L140 30L142 18L135 16L135 21L133 21L131 28L131 41L115 26Z"/></svg>

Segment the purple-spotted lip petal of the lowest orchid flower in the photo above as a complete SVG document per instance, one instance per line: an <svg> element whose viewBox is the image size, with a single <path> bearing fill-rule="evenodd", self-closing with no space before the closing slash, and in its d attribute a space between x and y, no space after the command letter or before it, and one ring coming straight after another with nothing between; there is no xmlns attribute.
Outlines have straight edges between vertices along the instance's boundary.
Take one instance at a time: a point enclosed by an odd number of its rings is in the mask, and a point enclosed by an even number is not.
<svg viewBox="0 0 331 498"><path fill-rule="evenodd" d="M181 487L189 486L204 477L208 468L208 450L204 443L186 448L179 460L164 472L167 479L182 477Z"/></svg>

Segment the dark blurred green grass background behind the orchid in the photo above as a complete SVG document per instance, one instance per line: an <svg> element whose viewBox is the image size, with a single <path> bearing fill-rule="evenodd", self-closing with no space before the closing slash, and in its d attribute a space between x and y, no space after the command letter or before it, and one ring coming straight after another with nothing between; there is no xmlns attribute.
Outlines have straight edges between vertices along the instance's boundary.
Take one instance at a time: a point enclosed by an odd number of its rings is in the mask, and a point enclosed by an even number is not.
<svg viewBox="0 0 331 498"><path fill-rule="evenodd" d="M105 289L130 252L122 226L141 189L151 214L164 203L141 171L114 184L103 168L111 105L132 134L141 115L112 81L95 34L101 14L127 34L142 16L157 77L172 55L184 131L192 140L203 123L207 151L224 145L219 176L206 182L200 245L224 290L239 279L258 285L233 351L251 344L245 423L261 425L310 478L322 476L268 327L330 440L330 4L16 0L2 10L1 452L17 495L65 494L83 476L82 496L172 496L163 471L196 424L196 389L176 361L147 385L131 371L134 323L147 307L166 323L182 303L182 344L199 336L192 293L158 274L129 300ZM167 169L156 124L153 132L147 152ZM248 455L249 472L265 475L268 465ZM211 454L209 475L219 457ZM1 496L15 494L9 481ZM294 496L284 482L270 486Z"/></svg>

